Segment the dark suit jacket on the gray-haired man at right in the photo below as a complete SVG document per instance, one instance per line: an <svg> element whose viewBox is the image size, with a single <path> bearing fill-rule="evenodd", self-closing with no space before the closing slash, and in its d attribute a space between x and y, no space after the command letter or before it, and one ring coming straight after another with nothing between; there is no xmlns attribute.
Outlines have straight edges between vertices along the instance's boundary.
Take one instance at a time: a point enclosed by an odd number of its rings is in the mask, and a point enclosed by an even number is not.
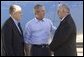
<svg viewBox="0 0 84 57"><path fill-rule="evenodd" d="M71 15L61 21L55 31L50 48L55 56L75 56L76 52L76 26Z"/></svg>

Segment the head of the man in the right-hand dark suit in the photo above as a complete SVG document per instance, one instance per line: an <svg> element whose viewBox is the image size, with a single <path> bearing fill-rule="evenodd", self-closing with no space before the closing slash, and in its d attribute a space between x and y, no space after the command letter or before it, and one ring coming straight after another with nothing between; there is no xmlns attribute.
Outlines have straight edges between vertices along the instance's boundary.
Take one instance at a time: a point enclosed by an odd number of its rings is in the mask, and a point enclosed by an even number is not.
<svg viewBox="0 0 84 57"><path fill-rule="evenodd" d="M65 4L59 4L58 5L58 15L62 19L64 16L70 13L70 9Z"/></svg>

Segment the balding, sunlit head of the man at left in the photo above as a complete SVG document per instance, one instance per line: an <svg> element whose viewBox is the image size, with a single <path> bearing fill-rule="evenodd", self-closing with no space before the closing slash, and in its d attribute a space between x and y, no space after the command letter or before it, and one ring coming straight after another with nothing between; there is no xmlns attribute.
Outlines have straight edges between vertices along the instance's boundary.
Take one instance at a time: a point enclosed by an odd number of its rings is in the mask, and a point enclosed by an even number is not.
<svg viewBox="0 0 84 57"><path fill-rule="evenodd" d="M9 8L10 15L16 19L19 20L21 18L21 7L19 5L12 5Z"/></svg>

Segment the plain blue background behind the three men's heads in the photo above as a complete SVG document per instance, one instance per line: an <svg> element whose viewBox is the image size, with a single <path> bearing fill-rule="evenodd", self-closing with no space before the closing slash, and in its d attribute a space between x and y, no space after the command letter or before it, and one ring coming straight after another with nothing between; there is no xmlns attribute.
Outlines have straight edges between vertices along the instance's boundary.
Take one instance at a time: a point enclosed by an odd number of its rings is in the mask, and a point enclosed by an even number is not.
<svg viewBox="0 0 84 57"><path fill-rule="evenodd" d="M22 7L21 25L24 30L25 24L35 17L33 7L36 4L42 4L46 7L45 17L51 19L54 26L58 27L60 20L56 11L59 2L69 6L76 23L77 33L83 33L83 1L1 1L1 26L9 18L10 5L18 4Z"/></svg>

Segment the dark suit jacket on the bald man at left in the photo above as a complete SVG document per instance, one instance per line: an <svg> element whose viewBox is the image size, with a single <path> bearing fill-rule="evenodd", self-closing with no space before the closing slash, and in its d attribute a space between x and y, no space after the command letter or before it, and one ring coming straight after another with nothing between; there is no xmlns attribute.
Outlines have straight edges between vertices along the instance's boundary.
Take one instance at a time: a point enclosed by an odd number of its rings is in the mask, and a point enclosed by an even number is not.
<svg viewBox="0 0 84 57"><path fill-rule="evenodd" d="M23 56L23 35L20 34L14 21L10 17L2 27L1 31L2 56Z"/></svg>

